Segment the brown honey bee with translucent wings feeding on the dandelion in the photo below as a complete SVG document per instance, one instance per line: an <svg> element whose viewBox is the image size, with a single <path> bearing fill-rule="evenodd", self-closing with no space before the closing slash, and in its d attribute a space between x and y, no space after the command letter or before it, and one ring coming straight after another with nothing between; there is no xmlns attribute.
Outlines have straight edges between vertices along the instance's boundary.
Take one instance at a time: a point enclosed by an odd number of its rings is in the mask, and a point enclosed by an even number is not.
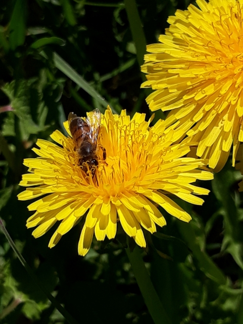
<svg viewBox="0 0 243 324"><path fill-rule="evenodd" d="M88 114L86 120L76 114L69 113L68 120L70 133L75 141L75 150L79 155L79 165L86 173L89 169L94 177L98 166L97 139L101 125L101 112L99 109L94 109ZM102 149L105 160L105 148L102 146L99 148Z"/></svg>

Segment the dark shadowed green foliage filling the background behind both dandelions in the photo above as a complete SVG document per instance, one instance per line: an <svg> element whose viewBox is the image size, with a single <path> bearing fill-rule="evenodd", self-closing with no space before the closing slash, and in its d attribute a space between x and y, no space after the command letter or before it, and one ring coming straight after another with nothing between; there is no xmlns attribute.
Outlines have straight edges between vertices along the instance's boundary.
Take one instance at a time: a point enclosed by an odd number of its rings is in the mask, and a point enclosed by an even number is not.
<svg viewBox="0 0 243 324"><path fill-rule="evenodd" d="M126 242L94 241L80 257L77 225L50 250L53 229L34 239L25 227L31 213L29 202L17 200L18 183L26 172L23 158L35 156L36 139L64 132L70 111L85 116L109 103L114 112L149 118L148 92L140 89L145 42L156 42L168 16L189 3L137 0L136 9L133 0L0 1L0 218L37 277L30 277L0 231L0 323L153 323ZM156 112L155 120L160 117ZM200 183L211 190L203 206L177 201L191 214L189 224L165 214L167 226L146 234L148 248L140 252L173 324L243 323L239 180L229 161L212 183ZM74 320L61 315L36 282Z"/></svg>

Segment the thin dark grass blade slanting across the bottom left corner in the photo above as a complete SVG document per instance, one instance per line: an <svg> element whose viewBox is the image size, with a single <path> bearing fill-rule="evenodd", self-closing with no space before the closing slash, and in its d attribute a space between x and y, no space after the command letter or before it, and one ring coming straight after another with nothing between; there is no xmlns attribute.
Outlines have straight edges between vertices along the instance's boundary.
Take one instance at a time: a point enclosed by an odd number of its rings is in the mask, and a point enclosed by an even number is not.
<svg viewBox="0 0 243 324"><path fill-rule="evenodd" d="M11 239L10 235L8 234L8 231L6 230L5 226L3 225L3 222L1 221L1 219L0 219L0 228L3 232L3 234L5 235L6 239L8 240L11 248L16 253L17 258L19 259L19 261L22 263L22 265L24 266L27 273L30 275L30 277L35 282L35 285L37 285L38 288L43 291L43 293L47 296L47 298L50 300L50 302L65 317L65 319L68 321L69 324L80 324L69 314L69 312L64 307L62 307L61 304L59 304L57 302L57 300L52 296L52 294L48 290L46 290L46 288L43 286L43 284L39 282L39 279L37 278L37 276L35 275L33 270L30 268L30 266L25 261L23 256L17 250L17 246L15 245L14 241Z"/></svg>

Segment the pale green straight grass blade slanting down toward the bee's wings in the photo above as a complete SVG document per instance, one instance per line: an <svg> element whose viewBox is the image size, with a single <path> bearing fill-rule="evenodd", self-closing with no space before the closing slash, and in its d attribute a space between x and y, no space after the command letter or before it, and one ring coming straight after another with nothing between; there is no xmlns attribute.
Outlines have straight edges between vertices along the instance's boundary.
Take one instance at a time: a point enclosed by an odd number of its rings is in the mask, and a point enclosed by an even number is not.
<svg viewBox="0 0 243 324"><path fill-rule="evenodd" d="M104 98L91 86L87 81L82 78L64 59L61 58L57 53L53 53L53 60L56 68L67 75L73 82L84 89L91 97L97 100L104 108L109 104ZM112 108L113 113L117 113L114 108Z"/></svg>

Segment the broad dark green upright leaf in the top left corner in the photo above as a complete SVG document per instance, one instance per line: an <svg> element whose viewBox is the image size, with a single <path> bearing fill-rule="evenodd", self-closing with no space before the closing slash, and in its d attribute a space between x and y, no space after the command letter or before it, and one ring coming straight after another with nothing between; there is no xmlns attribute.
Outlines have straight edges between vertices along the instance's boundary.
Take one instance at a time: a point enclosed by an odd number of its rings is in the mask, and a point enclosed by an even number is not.
<svg viewBox="0 0 243 324"><path fill-rule="evenodd" d="M23 45L26 35L26 0L16 0L9 23L9 43L11 50Z"/></svg>

